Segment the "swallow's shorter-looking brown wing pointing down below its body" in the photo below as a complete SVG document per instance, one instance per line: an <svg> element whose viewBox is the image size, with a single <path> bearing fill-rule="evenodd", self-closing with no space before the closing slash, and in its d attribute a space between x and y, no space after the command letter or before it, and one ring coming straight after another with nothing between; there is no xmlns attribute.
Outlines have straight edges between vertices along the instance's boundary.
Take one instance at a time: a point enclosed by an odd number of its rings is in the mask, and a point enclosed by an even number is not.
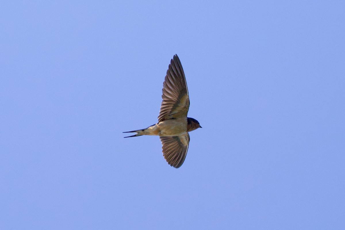
<svg viewBox="0 0 345 230"><path fill-rule="evenodd" d="M188 145L189 134L188 132L173 137L160 137L162 142L162 152L164 159L175 168L179 168L185 161Z"/></svg>

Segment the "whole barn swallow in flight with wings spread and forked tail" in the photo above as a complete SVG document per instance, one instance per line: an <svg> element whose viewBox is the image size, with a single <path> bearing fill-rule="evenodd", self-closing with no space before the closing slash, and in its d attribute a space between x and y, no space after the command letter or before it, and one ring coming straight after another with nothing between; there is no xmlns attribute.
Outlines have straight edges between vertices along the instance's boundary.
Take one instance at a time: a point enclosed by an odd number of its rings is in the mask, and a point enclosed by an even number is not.
<svg viewBox="0 0 345 230"><path fill-rule="evenodd" d="M159 136L165 160L170 166L179 168L187 155L188 132L202 127L197 120L187 117L189 110L188 88L185 73L177 54L174 55L169 64L163 82L162 99L158 123L146 129L129 131L136 132L135 135L129 137Z"/></svg>

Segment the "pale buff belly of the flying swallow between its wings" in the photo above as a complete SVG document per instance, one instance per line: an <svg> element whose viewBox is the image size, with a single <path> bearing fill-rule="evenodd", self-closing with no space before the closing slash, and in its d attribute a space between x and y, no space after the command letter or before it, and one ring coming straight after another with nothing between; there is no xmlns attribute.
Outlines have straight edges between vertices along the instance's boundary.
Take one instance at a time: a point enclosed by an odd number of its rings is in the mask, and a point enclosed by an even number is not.
<svg viewBox="0 0 345 230"><path fill-rule="evenodd" d="M187 118L169 119L157 124L159 136L179 136L187 132Z"/></svg>

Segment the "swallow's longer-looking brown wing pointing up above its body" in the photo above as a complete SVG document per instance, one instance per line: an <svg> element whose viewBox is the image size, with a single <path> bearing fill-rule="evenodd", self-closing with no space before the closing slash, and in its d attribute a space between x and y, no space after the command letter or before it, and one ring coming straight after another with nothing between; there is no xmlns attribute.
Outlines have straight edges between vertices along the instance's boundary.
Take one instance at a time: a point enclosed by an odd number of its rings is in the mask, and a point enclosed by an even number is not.
<svg viewBox="0 0 345 230"><path fill-rule="evenodd" d="M163 100L158 121L187 117L189 109L188 88L185 73L177 54L170 61L162 92Z"/></svg>

